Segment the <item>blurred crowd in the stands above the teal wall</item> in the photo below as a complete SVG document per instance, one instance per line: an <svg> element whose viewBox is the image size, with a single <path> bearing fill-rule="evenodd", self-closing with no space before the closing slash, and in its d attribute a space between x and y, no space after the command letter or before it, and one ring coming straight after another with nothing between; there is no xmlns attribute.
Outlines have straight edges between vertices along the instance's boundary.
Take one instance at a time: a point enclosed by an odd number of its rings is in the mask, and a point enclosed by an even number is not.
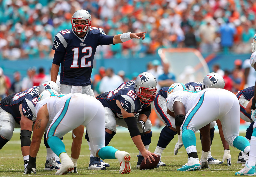
<svg viewBox="0 0 256 177"><path fill-rule="evenodd" d="M54 36L85 9L108 35L147 31L146 39L97 48L96 59L143 57L161 47L250 53L255 0L0 0L0 59L52 58Z"/></svg>

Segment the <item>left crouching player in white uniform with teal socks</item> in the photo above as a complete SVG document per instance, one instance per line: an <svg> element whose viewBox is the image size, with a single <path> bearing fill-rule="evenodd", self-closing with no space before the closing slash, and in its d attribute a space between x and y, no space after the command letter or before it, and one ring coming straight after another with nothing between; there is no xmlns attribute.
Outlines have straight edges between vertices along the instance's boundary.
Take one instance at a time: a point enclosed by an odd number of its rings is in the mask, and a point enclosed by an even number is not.
<svg viewBox="0 0 256 177"><path fill-rule="evenodd" d="M47 143L61 159L60 169L55 174L62 175L72 171L76 166L76 159L69 158L60 138L80 125L87 128L94 156L118 159L119 173L131 171L128 152L119 151L112 146L105 147L104 108L96 98L80 93L58 95L56 91L48 89L38 99L29 163L24 174L36 173L36 155L45 131Z"/></svg>

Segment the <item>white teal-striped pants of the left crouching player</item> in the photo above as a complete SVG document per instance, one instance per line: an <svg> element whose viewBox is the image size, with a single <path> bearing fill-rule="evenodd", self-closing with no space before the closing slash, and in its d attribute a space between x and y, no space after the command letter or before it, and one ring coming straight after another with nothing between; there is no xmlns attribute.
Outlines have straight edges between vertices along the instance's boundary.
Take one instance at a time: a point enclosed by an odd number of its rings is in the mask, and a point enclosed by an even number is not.
<svg viewBox="0 0 256 177"><path fill-rule="evenodd" d="M88 132L93 155L105 147L105 118L103 105L95 98L69 98L48 126L46 137L63 137L66 133L84 125Z"/></svg>

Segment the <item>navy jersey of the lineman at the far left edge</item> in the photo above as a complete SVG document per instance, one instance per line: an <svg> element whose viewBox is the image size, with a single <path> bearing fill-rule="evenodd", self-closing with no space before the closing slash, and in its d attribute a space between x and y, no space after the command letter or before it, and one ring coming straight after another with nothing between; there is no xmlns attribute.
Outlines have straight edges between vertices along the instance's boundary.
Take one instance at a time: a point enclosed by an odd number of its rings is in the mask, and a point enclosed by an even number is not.
<svg viewBox="0 0 256 177"><path fill-rule="evenodd" d="M15 121L19 123L21 114L19 105L22 104L22 113L30 120L35 120L35 107L38 102L39 86L31 87L23 92L9 95L0 101L0 107L10 113ZM34 119L33 119L34 117Z"/></svg>

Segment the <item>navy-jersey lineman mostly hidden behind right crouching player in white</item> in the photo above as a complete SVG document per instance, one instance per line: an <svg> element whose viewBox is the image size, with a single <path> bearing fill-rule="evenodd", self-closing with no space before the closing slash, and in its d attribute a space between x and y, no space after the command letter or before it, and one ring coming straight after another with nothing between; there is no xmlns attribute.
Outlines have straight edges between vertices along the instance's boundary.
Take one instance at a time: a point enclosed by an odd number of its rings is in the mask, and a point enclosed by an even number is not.
<svg viewBox="0 0 256 177"><path fill-rule="evenodd" d="M185 85L188 88L188 90L201 91L204 88L223 88L224 84L225 84L224 80L219 74L209 73L205 76L203 82L189 82L189 83L186 83ZM177 134L174 115L171 116L167 113L167 107L165 104L168 88L169 87L163 87L162 89L160 89L156 95L155 100L154 100L155 111L156 111L158 117L162 120L162 122L164 122L166 124L166 126L163 128L163 130L160 133L157 147L154 152L156 154L159 154L160 157L162 155L163 150L166 148L166 146L170 143L170 141ZM214 135L214 125L215 125L215 123L212 122L211 123L211 132L210 132L211 143L212 143L212 139L213 139L213 135ZM203 135L205 135L205 134L203 133ZM200 138L201 138L201 133L200 133ZM223 136L223 138L224 138L224 136ZM178 143L179 143L179 141L178 141ZM225 153L228 153L226 151L229 149L229 145L227 144L225 139L223 141L223 146L225 149L224 150L224 155L225 155ZM178 152L178 149L176 149L176 148L181 148L181 147L182 147L182 143L180 143L180 144L176 143L176 145L175 145L176 151L174 153L175 155ZM226 158L226 156L227 155L225 155L225 158ZM223 158L224 158L224 156L223 156ZM231 158L231 157L229 157L229 158ZM221 161L214 159L211 156L211 153L209 153L208 162L209 162L209 164L221 164L222 163ZM160 160L158 165L165 166L166 164Z"/></svg>

